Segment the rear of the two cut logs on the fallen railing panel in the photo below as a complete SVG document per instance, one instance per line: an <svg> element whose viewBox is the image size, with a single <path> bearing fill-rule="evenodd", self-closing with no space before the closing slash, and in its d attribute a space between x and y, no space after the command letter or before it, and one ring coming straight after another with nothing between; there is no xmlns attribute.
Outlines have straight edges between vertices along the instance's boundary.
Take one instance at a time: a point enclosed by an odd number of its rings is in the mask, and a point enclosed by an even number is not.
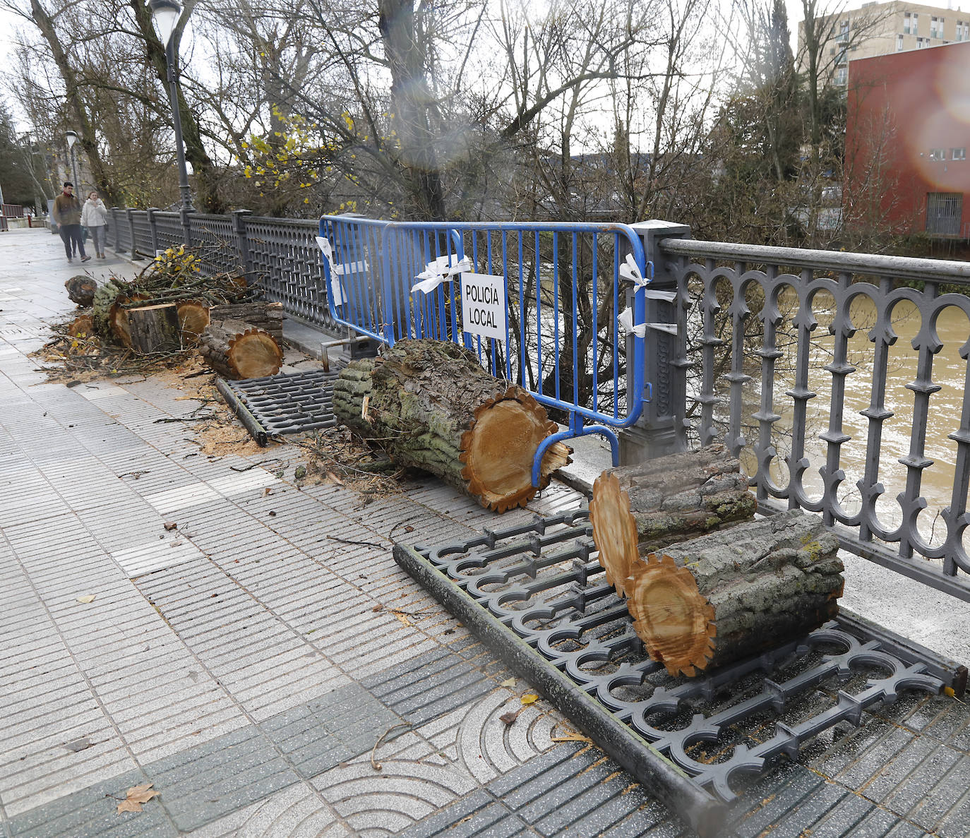
<svg viewBox="0 0 970 838"><path fill-rule="evenodd" d="M599 564L624 596L640 554L751 518L757 508L748 478L723 445L607 468L590 500Z"/></svg>

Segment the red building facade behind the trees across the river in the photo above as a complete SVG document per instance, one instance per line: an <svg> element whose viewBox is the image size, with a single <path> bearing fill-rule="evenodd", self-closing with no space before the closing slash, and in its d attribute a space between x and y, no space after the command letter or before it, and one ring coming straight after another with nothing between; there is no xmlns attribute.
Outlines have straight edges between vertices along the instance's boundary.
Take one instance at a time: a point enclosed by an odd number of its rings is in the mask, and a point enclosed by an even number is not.
<svg viewBox="0 0 970 838"><path fill-rule="evenodd" d="M846 220L970 239L970 42L849 63Z"/></svg>

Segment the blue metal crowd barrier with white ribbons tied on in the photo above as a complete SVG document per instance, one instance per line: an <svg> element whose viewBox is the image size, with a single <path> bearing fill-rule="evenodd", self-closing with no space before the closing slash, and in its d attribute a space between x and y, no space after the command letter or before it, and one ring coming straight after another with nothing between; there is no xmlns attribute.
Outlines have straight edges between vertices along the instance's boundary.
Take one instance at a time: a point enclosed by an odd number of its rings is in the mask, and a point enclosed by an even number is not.
<svg viewBox="0 0 970 838"><path fill-rule="evenodd" d="M533 485L546 449L560 439L603 435L618 463L616 430L639 418L650 386L644 382L644 286L652 266L629 226L324 216L320 235L331 241L328 296L339 322L388 345L403 338L461 343L493 375L562 411L566 431L539 446ZM466 328L463 274L488 274L501 283L503 339ZM414 290L418 277L428 279L427 291ZM628 307L629 333L618 320Z"/></svg>

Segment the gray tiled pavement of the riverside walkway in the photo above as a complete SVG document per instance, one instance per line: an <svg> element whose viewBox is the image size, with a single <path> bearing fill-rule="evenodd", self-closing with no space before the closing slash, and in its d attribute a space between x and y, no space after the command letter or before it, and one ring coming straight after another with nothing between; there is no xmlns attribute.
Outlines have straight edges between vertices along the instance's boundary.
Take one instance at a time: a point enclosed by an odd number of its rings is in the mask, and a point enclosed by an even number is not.
<svg viewBox="0 0 970 838"><path fill-rule="evenodd" d="M391 559L405 525L441 542L490 513L430 479L367 505L300 486L287 445L207 458L158 421L198 406L158 378L47 382L26 353L70 310L59 243L0 235L4 835L690 834L557 743L543 701L501 722L528 685ZM964 835L968 753L962 704L907 696L746 790L734 825ZM149 782L160 798L115 813Z"/></svg>

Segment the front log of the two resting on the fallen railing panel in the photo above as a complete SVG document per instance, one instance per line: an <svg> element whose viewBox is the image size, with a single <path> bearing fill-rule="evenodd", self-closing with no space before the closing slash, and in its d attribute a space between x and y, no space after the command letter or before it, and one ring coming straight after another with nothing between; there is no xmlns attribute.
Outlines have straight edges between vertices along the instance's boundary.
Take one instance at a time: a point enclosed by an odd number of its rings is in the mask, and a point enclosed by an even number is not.
<svg viewBox="0 0 970 838"><path fill-rule="evenodd" d="M625 586L633 628L671 675L759 654L838 613L838 546L821 518L791 510L650 553Z"/></svg>

